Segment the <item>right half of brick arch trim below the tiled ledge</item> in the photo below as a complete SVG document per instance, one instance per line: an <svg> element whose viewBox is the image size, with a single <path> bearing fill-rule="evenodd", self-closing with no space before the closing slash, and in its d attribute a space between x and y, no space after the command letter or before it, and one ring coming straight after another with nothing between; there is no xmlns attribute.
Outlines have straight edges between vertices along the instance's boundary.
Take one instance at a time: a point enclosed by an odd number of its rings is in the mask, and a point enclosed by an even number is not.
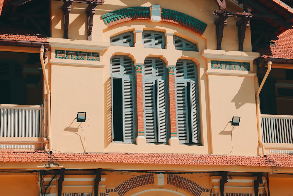
<svg viewBox="0 0 293 196"><path fill-rule="evenodd" d="M210 189L203 188L192 180L175 174L168 174L167 184L179 187L195 196L200 196L202 192L211 192Z"/></svg>

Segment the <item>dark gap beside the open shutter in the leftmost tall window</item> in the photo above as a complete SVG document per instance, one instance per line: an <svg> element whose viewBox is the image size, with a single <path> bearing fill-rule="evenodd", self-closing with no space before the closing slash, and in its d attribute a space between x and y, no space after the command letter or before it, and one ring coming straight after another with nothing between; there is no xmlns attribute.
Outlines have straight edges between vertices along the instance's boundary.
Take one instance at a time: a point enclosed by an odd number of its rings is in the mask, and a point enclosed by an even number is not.
<svg viewBox="0 0 293 196"><path fill-rule="evenodd" d="M113 78L113 132L114 141L123 142L122 79Z"/></svg>

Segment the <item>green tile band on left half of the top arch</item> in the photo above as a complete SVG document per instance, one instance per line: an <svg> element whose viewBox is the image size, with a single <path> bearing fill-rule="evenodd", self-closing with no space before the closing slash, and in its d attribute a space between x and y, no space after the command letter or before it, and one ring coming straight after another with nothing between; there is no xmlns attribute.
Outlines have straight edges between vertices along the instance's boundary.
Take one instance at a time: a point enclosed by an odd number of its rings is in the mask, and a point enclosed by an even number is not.
<svg viewBox="0 0 293 196"><path fill-rule="evenodd" d="M138 17L151 19L151 12L150 7L129 7L129 8L123 8L118 9L112 12L109 12L107 14L102 15L103 21L105 24L109 24L111 22L127 19L127 18L133 18L136 19Z"/></svg>

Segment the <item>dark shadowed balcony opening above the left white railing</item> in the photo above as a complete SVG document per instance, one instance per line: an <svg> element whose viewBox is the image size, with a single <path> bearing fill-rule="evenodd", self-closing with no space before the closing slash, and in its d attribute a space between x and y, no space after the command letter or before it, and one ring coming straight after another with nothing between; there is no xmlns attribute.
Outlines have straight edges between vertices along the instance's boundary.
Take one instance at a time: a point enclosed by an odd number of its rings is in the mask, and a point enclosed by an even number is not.
<svg viewBox="0 0 293 196"><path fill-rule="evenodd" d="M39 54L0 52L0 104L41 105Z"/></svg>

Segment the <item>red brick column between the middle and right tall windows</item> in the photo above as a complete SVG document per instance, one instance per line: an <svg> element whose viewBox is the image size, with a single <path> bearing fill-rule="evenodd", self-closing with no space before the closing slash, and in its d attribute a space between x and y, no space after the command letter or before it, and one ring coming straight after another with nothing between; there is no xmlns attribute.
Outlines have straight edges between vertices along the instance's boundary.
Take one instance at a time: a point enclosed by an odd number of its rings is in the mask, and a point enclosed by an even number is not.
<svg viewBox="0 0 293 196"><path fill-rule="evenodd" d="M168 89L169 89L169 128L170 138L177 138L176 124L176 94L175 94L175 67L168 68Z"/></svg>

